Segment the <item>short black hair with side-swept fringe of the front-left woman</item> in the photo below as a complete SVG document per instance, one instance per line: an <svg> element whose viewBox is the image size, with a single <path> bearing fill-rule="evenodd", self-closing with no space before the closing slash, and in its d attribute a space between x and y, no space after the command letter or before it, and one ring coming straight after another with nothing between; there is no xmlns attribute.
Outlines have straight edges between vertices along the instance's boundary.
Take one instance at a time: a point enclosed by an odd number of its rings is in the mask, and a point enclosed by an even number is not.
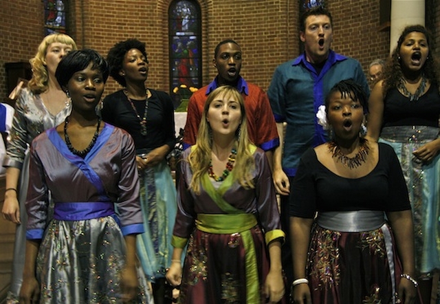
<svg viewBox="0 0 440 304"><path fill-rule="evenodd" d="M95 50L85 49L72 51L61 59L56 67L55 77L61 87L66 87L70 78L79 71L82 71L93 63L92 69L98 69L102 73L104 83L109 78L109 65Z"/></svg>

